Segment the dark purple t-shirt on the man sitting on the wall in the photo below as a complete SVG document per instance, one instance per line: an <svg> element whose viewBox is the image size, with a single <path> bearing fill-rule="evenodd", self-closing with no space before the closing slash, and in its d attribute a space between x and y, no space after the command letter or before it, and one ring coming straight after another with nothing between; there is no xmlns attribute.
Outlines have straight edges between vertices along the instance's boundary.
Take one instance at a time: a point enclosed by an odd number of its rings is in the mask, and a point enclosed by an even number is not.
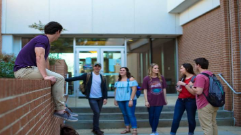
<svg viewBox="0 0 241 135"><path fill-rule="evenodd" d="M43 47L45 49L45 60L48 58L50 49L48 37L46 35L36 36L19 52L15 61L14 72L27 66L37 66L35 47Z"/></svg>

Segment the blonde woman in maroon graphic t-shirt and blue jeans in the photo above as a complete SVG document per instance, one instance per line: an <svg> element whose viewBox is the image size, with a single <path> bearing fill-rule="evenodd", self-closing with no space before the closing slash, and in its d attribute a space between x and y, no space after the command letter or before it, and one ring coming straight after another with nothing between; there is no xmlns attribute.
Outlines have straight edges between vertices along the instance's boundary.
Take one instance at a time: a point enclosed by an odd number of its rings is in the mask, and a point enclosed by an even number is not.
<svg viewBox="0 0 241 135"><path fill-rule="evenodd" d="M150 135L158 135L156 132L159 117L163 105L167 105L166 100L166 81L159 72L159 66L152 63L149 67L148 76L143 79L142 88L144 89L145 106L149 112L149 123L152 128Z"/></svg>

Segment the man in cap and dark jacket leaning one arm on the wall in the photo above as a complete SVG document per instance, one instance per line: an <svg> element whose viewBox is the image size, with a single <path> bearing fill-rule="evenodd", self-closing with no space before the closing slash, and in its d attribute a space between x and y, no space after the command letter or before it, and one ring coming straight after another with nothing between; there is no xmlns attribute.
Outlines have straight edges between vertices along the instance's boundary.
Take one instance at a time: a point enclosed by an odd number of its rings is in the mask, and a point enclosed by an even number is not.
<svg viewBox="0 0 241 135"><path fill-rule="evenodd" d="M99 128L100 112L103 104L107 103L107 87L106 80L100 74L101 64L95 63L93 66L93 72L85 73L81 76L66 78L65 81L77 81L83 80L84 86L81 87L83 94L89 100L90 107L94 113L93 116L93 130L96 135L103 135L103 131Z"/></svg>

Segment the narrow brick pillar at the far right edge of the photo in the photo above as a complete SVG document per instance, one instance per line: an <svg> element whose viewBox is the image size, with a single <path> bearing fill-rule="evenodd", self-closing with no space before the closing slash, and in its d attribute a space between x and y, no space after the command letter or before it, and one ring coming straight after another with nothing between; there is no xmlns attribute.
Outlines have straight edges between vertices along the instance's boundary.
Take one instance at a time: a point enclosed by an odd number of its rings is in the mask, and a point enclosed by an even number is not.
<svg viewBox="0 0 241 135"><path fill-rule="evenodd" d="M241 92L241 72L240 72L240 41L239 37L240 29L239 29L239 21L240 10L241 10L241 0L239 0L239 5L237 4L237 0L230 0L229 8L230 8L230 25L231 25L231 49L232 49L232 79L233 79L233 88ZM239 7L239 13L238 13ZM241 20L240 20L241 21ZM234 94L234 118L236 119L235 125L241 126L241 95Z"/></svg>

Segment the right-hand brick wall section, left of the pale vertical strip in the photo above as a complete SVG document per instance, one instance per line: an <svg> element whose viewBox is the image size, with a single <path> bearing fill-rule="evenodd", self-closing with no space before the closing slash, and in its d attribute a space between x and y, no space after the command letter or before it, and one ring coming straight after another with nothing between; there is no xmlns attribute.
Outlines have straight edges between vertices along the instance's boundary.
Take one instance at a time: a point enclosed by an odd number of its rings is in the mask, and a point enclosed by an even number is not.
<svg viewBox="0 0 241 135"><path fill-rule="evenodd" d="M195 58L205 57L209 60L209 70L215 74L222 73L231 83L228 18L224 14L227 12L224 3L183 26L183 35L178 38L178 62L180 67L184 62L194 64ZM225 109L232 110L232 92L227 85L224 89Z"/></svg>

